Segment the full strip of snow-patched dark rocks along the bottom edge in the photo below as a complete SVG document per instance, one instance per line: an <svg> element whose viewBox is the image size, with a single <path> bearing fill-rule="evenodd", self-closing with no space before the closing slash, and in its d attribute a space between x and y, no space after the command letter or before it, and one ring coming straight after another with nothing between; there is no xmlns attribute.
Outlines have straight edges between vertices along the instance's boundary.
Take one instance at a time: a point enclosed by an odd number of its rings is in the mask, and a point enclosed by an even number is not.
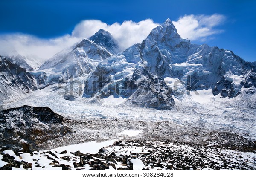
<svg viewBox="0 0 256 179"><path fill-rule="evenodd" d="M256 153L168 141L117 141L96 154L4 150L0 170L256 170Z"/></svg>

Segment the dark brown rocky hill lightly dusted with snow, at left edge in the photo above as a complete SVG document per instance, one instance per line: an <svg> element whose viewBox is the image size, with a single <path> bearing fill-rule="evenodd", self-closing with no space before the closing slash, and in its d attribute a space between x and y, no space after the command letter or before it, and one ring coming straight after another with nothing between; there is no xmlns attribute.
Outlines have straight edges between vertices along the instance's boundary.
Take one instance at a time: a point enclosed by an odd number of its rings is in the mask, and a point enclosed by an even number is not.
<svg viewBox="0 0 256 179"><path fill-rule="evenodd" d="M26 152L31 152L32 148L45 147L48 140L54 141L70 133L66 120L47 107L22 106L2 110L0 147L19 149L22 147L21 139L29 143L23 144Z"/></svg>

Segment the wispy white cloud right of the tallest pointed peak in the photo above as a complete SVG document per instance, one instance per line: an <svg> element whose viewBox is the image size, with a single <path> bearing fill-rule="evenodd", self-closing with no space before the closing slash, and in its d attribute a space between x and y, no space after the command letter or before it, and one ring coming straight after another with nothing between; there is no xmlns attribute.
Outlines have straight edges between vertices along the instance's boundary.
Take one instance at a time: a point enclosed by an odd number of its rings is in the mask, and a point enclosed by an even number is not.
<svg viewBox="0 0 256 179"><path fill-rule="evenodd" d="M214 34L219 34L223 30L215 29L216 26L224 22L226 17L221 14L207 15L185 15L177 22L173 22L177 32L183 38L190 40L205 41Z"/></svg>

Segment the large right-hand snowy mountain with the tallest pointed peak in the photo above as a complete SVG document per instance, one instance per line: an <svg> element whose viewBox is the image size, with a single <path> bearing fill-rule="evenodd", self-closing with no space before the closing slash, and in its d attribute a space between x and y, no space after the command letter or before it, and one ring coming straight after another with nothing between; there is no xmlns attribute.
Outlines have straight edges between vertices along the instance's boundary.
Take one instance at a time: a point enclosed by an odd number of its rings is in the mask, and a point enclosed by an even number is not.
<svg viewBox="0 0 256 179"><path fill-rule="evenodd" d="M211 89L213 95L229 98L255 92L255 70L232 51L191 44L167 19L142 43L102 61L90 75L84 97L122 96L139 106L169 109L171 94L183 98L186 90Z"/></svg>

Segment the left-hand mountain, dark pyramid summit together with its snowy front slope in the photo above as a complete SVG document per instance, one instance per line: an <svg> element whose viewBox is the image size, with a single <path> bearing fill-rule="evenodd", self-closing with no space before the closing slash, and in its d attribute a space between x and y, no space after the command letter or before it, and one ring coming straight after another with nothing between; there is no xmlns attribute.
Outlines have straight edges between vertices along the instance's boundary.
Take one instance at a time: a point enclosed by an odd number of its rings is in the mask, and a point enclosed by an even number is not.
<svg viewBox="0 0 256 179"><path fill-rule="evenodd" d="M90 74L100 61L110 57L119 51L113 36L99 30L89 39L64 49L46 61L39 70L53 69L53 72L61 72L61 78L70 78Z"/></svg>

